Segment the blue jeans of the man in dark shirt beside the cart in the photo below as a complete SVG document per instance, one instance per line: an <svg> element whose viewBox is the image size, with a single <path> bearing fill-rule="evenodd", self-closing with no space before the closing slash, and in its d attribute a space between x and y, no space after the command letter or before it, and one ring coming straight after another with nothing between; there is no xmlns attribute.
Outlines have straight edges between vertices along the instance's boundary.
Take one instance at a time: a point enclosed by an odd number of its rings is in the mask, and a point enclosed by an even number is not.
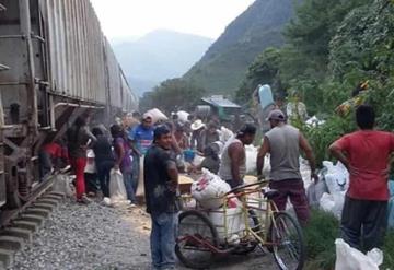
<svg viewBox="0 0 394 270"><path fill-rule="evenodd" d="M153 269L172 269L175 267L177 213L161 213L151 218L150 244Z"/></svg>

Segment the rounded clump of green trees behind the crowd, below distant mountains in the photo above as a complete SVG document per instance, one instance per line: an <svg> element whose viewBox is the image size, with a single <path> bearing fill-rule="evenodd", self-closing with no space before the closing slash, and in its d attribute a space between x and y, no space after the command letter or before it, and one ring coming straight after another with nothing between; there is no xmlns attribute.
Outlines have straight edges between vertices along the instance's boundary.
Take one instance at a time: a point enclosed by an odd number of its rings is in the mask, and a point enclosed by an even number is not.
<svg viewBox="0 0 394 270"><path fill-rule="evenodd" d="M192 111L206 91L182 79L171 79L147 92L140 101L142 111L159 108L164 114L179 109Z"/></svg>

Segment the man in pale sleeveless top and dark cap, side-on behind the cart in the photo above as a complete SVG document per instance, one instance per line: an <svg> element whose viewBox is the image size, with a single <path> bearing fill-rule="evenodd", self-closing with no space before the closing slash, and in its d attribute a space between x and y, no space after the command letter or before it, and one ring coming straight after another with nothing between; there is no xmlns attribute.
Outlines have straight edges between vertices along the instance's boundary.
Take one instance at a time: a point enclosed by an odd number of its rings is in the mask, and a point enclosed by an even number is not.
<svg viewBox="0 0 394 270"><path fill-rule="evenodd" d="M252 144L256 136L256 127L246 124L230 139L223 149L219 176L227 181L231 188L243 185L243 177L246 173L245 145Z"/></svg>

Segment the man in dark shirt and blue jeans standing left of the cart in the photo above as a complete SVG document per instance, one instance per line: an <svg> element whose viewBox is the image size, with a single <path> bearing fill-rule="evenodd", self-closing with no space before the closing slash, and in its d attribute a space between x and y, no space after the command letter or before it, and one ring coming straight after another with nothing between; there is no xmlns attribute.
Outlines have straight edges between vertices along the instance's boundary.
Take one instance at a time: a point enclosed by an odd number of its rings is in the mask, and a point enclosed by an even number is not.
<svg viewBox="0 0 394 270"><path fill-rule="evenodd" d="M178 207L178 172L169 151L172 134L167 127L154 130L154 142L144 157L144 195L147 212L152 219L150 235L153 269L175 268L175 228Z"/></svg>

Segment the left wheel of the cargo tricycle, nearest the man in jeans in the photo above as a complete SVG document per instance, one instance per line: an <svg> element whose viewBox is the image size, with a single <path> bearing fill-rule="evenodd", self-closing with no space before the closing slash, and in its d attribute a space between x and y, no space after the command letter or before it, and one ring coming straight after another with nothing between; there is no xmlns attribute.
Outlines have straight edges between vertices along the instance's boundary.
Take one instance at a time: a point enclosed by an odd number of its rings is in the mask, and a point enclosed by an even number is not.
<svg viewBox="0 0 394 270"><path fill-rule="evenodd" d="M206 269L215 257L209 246L218 247L218 232L202 213L189 210L181 213L175 253L188 268Z"/></svg>

